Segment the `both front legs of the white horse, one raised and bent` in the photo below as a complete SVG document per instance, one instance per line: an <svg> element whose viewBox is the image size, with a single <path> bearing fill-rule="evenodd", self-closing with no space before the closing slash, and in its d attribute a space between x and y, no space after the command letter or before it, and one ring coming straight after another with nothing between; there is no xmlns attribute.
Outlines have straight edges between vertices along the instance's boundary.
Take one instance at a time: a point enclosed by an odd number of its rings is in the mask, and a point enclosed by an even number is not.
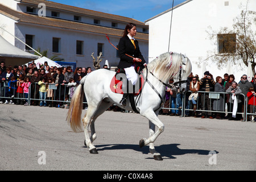
<svg viewBox="0 0 256 182"><path fill-rule="evenodd" d="M154 154L155 160L163 160L162 157L158 152L155 151L154 142L156 138L164 131L164 125L163 123L158 119L154 111L147 111L144 114L144 117L148 118L149 120L149 127L150 127L150 137L148 139L141 139L139 141L139 146L143 147L147 144L150 144L150 152L151 154ZM155 126L158 127L158 130L155 132Z"/></svg>

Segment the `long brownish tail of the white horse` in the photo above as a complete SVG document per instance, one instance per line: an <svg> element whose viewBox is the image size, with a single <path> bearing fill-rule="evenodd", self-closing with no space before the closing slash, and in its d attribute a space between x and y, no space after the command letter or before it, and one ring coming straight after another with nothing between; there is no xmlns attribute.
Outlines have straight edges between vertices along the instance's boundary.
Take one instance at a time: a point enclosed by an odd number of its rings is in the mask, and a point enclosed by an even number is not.
<svg viewBox="0 0 256 182"><path fill-rule="evenodd" d="M83 105L82 101L84 100L84 81L85 78L82 79L79 86L77 86L75 93L73 94L67 115L68 124L76 133L83 131L81 114Z"/></svg>

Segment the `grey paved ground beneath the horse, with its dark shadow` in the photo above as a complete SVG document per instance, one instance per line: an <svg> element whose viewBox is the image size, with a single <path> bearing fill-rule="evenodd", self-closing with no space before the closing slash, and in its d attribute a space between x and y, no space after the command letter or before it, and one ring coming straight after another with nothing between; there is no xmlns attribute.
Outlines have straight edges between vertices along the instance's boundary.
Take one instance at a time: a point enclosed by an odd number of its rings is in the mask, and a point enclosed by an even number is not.
<svg viewBox="0 0 256 182"><path fill-rule="evenodd" d="M67 111L1 104L0 170L256 169L256 123L160 115L165 129L155 146L163 161L155 161L148 146L138 145L148 137L141 115L106 111L96 121L99 154L89 154L84 133L65 121Z"/></svg>

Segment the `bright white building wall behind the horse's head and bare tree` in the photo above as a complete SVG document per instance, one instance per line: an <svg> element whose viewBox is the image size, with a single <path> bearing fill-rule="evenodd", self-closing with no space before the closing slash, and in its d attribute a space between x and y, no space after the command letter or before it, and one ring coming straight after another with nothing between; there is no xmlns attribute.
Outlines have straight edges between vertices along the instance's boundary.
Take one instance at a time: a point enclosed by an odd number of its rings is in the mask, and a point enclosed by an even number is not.
<svg viewBox="0 0 256 182"><path fill-rule="evenodd" d="M215 31L220 30L221 27L233 30L233 19L240 15L241 3L245 6L246 2L246 0L187 0L175 6L173 12L170 9L146 20L146 24L149 25L149 61L163 52L180 52L192 61L193 75L197 74L201 78L205 71L209 71L215 80L217 76L223 78L228 72L235 76L236 81L240 81L240 77L247 73L246 66L238 68L232 65L232 71L228 71L227 68L217 69L216 63L212 61L204 61L200 67L196 62L205 60L209 56L209 51L218 50L217 38L216 42L208 39L208 27L211 26ZM247 7L256 11L256 1L249 0Z"/></svg>

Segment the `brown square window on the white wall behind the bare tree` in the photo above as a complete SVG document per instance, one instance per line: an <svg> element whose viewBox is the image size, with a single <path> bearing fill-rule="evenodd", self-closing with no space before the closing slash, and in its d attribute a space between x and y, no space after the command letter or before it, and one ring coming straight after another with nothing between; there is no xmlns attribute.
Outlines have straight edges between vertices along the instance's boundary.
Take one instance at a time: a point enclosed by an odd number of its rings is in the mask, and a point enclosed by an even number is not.
<svg viewBox="0 0 256 182"><path fill-rule="evenodd" d="M218 34L218 53L236 52L236 34Z"/></svg>

